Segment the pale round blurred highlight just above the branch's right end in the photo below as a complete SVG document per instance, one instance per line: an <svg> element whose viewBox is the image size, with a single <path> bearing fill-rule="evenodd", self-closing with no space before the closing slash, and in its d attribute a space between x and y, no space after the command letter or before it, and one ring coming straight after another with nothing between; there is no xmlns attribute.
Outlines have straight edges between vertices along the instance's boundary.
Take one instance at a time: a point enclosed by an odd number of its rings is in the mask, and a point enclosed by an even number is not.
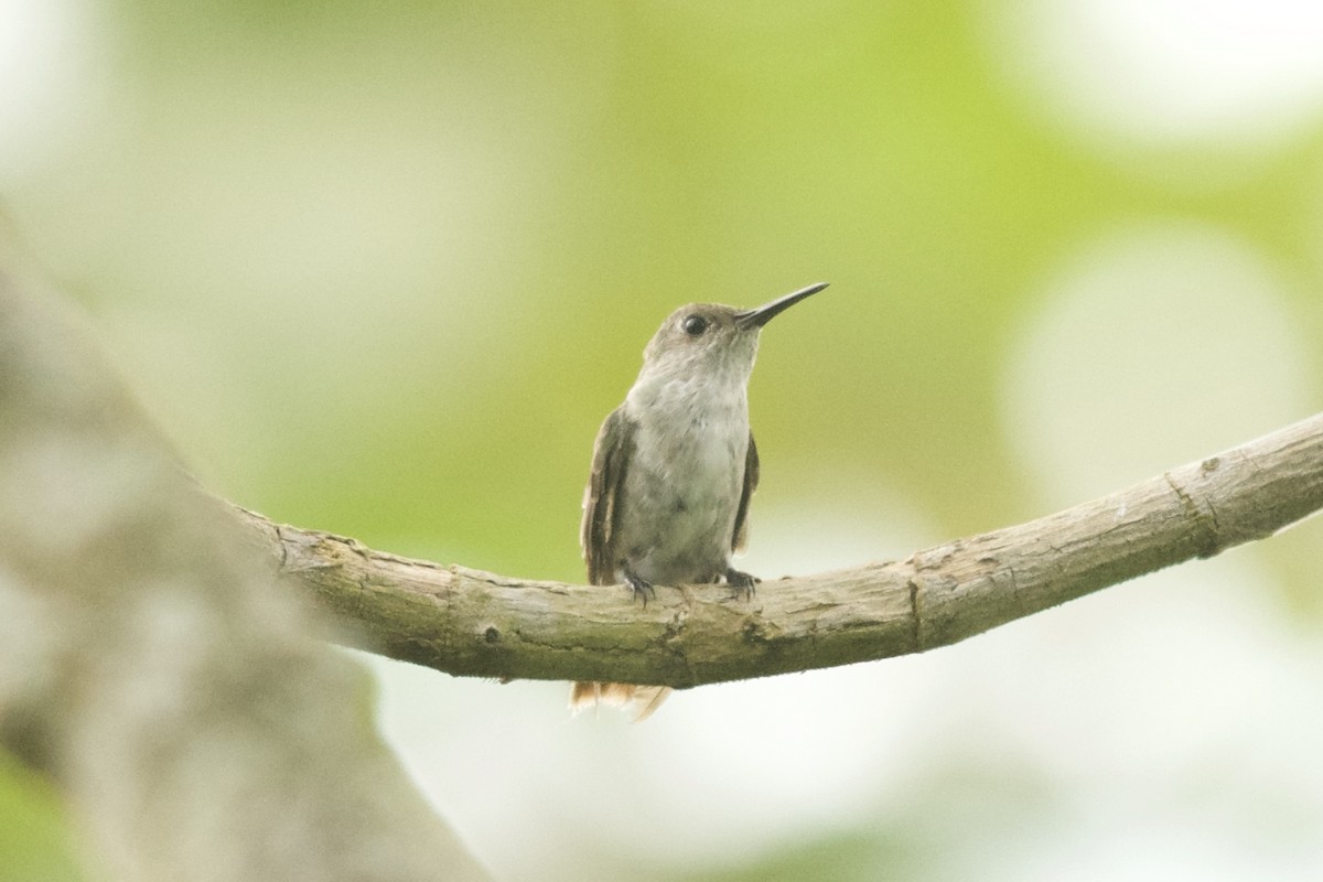
<svg viewBox="0 0 1323 882"><path fill-rule="evenodd" d="M1008 345L1004 424L1050 505L1248 442L1314 410L1285 282L1244 242L1142 225L1080 250Z"/></svg>

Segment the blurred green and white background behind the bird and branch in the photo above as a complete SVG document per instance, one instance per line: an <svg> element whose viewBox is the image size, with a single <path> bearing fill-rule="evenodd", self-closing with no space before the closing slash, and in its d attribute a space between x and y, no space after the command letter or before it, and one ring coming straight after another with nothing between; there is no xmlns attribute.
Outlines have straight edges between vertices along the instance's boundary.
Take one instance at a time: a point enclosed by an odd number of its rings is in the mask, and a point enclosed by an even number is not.
<svg viewBox="0 0 1323 882"><path fill-rule="evenodd" d="M766 578L1319 410L1319 45L1304 0L0 0L0 200L216 492L533 578L582 578L593 436L671 309L831 282L754 373ZM1320 550L636 727L365 664L504 879L1306 879ZM66 871L49 841L0 833Z"/></svg>

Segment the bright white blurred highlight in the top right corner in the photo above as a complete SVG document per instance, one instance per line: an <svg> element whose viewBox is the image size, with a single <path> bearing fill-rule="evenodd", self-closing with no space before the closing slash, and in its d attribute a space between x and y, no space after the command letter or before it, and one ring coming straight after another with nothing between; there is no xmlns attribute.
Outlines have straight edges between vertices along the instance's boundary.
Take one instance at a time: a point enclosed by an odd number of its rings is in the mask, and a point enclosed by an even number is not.
<svg viewBox="0 0 1323 882"><path fill-rule="evenodd" d="M1323 110L1314 0L1020 0L984 20L1027 107L1114 145L1279 144Z"/></svg>

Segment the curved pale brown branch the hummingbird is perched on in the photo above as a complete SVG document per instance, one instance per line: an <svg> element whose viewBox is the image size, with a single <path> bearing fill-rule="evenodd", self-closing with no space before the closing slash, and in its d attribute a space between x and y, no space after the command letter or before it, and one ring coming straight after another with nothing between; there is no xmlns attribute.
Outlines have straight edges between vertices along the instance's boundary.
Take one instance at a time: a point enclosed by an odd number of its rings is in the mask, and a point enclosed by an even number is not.
<svg viewBox="0 0 1323 882"><path fill-rule="evenodd" d="M1056 514L905 561L631 592L373 551L238 509L348 645L452 674L675 688L945 647L1091 591L1261 540L1323 506L1323 415Z"/></svg>

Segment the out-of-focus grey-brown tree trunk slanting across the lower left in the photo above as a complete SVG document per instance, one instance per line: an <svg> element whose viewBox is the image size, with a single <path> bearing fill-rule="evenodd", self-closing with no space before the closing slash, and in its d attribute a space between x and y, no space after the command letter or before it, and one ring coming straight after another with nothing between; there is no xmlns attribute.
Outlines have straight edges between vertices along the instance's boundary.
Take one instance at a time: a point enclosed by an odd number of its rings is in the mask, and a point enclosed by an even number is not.
<svg viewBox="0 0 1323 882"><path fill-rule="evenodd" d="M486 878L374 734L366 674L0 263L0 743L56 783L89 875Z"/></svg>

